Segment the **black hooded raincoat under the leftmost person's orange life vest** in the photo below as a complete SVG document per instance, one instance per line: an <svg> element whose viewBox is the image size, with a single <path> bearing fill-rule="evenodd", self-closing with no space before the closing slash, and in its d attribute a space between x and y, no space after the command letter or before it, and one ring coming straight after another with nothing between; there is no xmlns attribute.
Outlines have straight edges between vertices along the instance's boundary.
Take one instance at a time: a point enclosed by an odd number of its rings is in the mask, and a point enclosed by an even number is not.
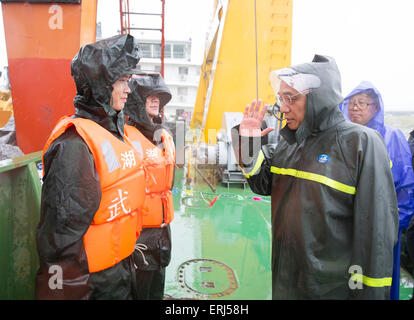
<svg viewBox="0 0 414 320"><path fill-rule="evenodd" d="M111 107L112 84L135 72L140 52L136 40L120 35L83 46L73 58L75 117L95 121L123 141L124 113ZM108 269L89 273L83 235L101 200L101 185L87 144L70 127L43 157L44 177L36 244L40 268L37 299L132 299L130 257ZM58 285L59 273L63 280Z"/></svg>

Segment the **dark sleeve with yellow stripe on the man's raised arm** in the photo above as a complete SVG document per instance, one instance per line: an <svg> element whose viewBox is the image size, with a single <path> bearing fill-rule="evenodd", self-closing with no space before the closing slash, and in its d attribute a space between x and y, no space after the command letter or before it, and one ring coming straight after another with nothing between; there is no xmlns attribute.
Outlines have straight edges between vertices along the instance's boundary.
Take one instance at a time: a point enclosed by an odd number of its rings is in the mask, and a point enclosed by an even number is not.
<svg viewBox="0 0 414 320"><path fill-rule="evenodd" d="M272 192L270 160L275 146L266 144L266 137L242 137L239 126L231 130L237 163L254 193L268 196Z"/></svg>

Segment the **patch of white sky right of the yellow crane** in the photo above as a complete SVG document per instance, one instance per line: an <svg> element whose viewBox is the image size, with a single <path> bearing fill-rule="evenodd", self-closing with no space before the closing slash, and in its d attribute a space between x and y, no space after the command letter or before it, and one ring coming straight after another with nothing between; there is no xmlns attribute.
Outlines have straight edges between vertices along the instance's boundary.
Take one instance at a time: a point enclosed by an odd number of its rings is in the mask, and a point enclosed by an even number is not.
<svg viewBox="0 0 414 320"><path fill-rule="evenodd" d="M414 112L414 1L294 0L292 63L333 56L346 96L362 80L385 110Z"/></svg>

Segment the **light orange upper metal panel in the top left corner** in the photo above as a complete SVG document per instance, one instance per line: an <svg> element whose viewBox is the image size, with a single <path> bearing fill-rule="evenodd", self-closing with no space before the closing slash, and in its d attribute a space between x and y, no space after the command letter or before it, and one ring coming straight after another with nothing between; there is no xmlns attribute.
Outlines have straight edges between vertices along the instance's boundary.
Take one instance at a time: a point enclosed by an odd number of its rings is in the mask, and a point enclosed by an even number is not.
<svg viewBox="0 0 414 320"><path fill-rule="evenodd" d="M79 49L81 6L3 3L9 59L67 58Z"/></svg>

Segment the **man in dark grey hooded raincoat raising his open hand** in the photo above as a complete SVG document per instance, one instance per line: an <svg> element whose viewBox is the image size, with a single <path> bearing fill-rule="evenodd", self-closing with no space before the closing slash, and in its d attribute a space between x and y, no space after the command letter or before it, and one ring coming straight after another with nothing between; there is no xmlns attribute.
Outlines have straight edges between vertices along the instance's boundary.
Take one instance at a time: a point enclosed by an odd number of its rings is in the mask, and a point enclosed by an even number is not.
<svg viewBox="0 0 414 320"><path fill-rule="evenodd" d="M262 144L267 106L232 129L250 188L271 195L273 299L389 299L398 205L379 134L346 121L332 57L271 72L286 125Z"/></svg>

